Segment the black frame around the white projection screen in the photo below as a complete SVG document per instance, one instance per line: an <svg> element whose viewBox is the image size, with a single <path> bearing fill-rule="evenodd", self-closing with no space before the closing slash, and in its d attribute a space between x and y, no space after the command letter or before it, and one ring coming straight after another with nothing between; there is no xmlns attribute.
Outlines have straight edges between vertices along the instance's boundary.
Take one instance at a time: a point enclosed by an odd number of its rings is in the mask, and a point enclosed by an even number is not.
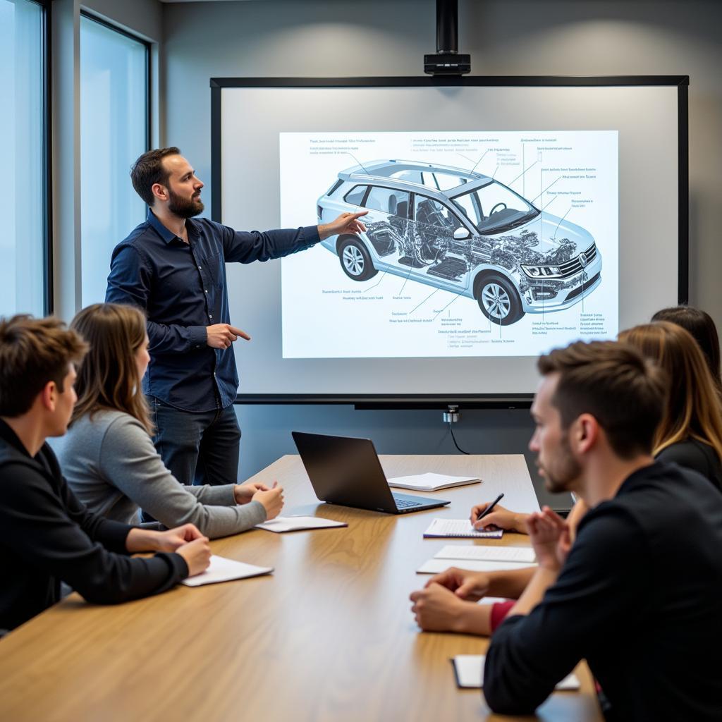
<svg viewBox="0 0 722 722"><path fill-rule="evenodd" d="M349 88L349 87L677 87L677 303L688 303L690 284L690 153L688 75L606 76L482 76L250 78L217 77L211 87L211 218L222 223L222 90L224 88ZM443 409L453 404L466 409L528 409L534 394L267 394L245 393L236 404L345 404L357 409Z"/></svg>

